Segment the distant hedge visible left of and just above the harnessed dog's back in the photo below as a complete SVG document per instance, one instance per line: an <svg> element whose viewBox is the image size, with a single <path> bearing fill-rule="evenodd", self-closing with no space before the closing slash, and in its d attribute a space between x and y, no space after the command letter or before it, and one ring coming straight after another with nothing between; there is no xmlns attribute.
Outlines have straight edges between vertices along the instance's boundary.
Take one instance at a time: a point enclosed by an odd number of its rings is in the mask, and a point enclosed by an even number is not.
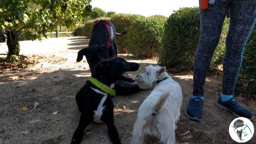
<svg viewBox="0 0 256 144"><path fill-rule="evenodd" d="M95 24L95 21L96 20L100 20L100 19L104 19L104 20L110 20L110 18L97 18L97 19L94 19L94 20L87 20L85 22L84 25L76 28L75 32L76 32L76 35L78 36L85 36L85 37L91 37L91 30Z"/></svg>

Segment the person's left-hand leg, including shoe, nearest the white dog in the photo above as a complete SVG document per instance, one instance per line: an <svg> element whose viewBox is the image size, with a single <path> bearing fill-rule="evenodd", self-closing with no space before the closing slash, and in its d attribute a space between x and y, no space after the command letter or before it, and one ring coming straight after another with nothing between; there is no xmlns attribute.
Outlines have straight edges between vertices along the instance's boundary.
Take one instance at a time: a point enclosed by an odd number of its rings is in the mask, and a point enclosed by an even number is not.
<svg viewBox="0 0 256 144"><path fill-rule="evenodd" d="M194 90L186 110L186 116L192 120L202 120L203 85L213 52L219 43L228 6L229 0L218 0L209 8L200 9L200 40L194 56Z"/></svg>

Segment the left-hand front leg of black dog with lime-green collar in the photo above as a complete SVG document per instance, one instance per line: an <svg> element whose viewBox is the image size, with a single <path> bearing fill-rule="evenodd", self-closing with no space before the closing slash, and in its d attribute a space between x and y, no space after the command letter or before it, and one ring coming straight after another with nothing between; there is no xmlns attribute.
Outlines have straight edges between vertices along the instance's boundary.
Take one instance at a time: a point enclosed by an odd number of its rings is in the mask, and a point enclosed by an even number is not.
<svg viewBox="0 0 256 144"><path fill-rule="evenodd" d="M92 122L93 114L87 115L86 113L82 113L79 120L79 125L73 134L71 144L78 144L81 142L83 137L83 132L85 128Z"/></svg>

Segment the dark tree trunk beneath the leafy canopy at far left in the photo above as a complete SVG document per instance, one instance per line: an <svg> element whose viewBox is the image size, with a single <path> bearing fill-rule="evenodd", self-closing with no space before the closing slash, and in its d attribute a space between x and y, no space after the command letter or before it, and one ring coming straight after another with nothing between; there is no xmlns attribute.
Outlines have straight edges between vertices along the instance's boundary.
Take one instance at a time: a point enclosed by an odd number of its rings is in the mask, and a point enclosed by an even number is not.
<svg viewBox="0 0 256 144"><path fill-rule="evenodd" d="M8 54L7 59L10 59L10 56L16 55L18 56L20 53L20 44L18 40L18 36L14 34L12 30L7 31L7 46L8 46Z"/></svg>

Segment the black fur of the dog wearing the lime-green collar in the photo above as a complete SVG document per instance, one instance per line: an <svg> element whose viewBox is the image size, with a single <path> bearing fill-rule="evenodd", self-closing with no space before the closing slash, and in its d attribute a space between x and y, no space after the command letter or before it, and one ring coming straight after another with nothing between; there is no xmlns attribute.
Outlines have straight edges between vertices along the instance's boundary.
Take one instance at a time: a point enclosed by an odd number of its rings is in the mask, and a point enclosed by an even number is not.
<svg viewBox="0 0 256 144"><path fill-rule="evenodd" d="M101 60L96 66L94 72L92 72L92 77L96 78L98 81L110 86L111 84L119 81L126 80L122 76L123 72L136 71L139 69L139 64L135 62L126 62L122 58L112 58L107 60ZM85 128L93 121L94 110L104 97L102 94L96 93L90 87L97 88L90 81L86 81L85 85L76 94L76 103L79 111L81 112L79 125L75 130L72 137L72 144L80 143L82 140L83 132ZM101 120L107 124L108 135L110 140L114 144L120 144L120 138L118 136L117 129L114 125L114 105L111 99L111 95L108 94L105 100L105 106Z"/></svg>

